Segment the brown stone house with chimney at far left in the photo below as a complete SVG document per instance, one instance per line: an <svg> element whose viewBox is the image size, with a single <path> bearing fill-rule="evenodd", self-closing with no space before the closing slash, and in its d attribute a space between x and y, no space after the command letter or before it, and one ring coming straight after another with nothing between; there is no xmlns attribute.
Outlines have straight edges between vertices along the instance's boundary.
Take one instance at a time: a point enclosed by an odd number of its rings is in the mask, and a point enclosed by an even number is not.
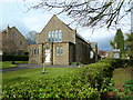
<svg viewBox="0 0 133 100"><path fill-rule="evenodd" d="M27 39L16 28L7 27L6 30L1 31L0 36L0 53L1 54L24 54L28 52Z"/></svg>

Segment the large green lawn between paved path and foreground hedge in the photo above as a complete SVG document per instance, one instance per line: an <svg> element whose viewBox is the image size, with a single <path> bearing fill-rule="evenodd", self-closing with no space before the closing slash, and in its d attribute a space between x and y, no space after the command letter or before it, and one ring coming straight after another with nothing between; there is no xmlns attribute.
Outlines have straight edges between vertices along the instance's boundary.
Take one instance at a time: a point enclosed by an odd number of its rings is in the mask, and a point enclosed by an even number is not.
<svg viewBox="0 0 133 100"><path fill-rule="evenodd" d="M44 78L58 78L69 73L73 73L75 68L47 68L47 74L40 74L42 68L24 69L2 73L2 83L13 84L24 82L27 80L44 79Z"/></svg>

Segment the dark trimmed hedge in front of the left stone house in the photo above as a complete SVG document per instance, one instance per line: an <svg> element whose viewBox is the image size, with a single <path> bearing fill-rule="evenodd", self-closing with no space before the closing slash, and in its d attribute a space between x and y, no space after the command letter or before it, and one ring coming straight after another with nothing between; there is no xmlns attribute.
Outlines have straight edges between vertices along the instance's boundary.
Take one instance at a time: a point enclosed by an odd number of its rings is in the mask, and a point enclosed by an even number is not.
<svg viewBox="0 0 133 100"><path fill-rule="evenodd" d="M28 56L2 56L2 61L28 61Z"/></svg>

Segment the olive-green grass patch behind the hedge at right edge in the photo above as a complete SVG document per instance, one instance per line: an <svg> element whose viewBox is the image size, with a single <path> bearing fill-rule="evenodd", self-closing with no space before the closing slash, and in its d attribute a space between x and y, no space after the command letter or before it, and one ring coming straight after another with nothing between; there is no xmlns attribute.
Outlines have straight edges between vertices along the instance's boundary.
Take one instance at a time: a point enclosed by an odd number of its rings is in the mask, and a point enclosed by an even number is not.
<svg viewBox="0 0 133 100"><path fill-rule="evenodd" d="M119 68L113 72L113 80L116 84L123 86L125 81L133 80L133 67Z"/></svg>

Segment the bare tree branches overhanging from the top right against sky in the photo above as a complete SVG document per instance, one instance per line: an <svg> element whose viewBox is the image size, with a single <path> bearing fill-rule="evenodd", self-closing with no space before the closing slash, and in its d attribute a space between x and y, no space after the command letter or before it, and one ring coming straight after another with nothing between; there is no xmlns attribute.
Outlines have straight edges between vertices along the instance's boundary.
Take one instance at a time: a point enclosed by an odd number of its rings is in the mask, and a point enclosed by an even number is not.
<svg viewBox="0 0 133 100"><path fill-rule="evenodd" d="M112 24L119 24L119 21L131 12L131 3L132 0L41 0L38 4L27 7L28 11L50 11L58 8L59 13L65 12L80 26L110 28Z"/></svg>

